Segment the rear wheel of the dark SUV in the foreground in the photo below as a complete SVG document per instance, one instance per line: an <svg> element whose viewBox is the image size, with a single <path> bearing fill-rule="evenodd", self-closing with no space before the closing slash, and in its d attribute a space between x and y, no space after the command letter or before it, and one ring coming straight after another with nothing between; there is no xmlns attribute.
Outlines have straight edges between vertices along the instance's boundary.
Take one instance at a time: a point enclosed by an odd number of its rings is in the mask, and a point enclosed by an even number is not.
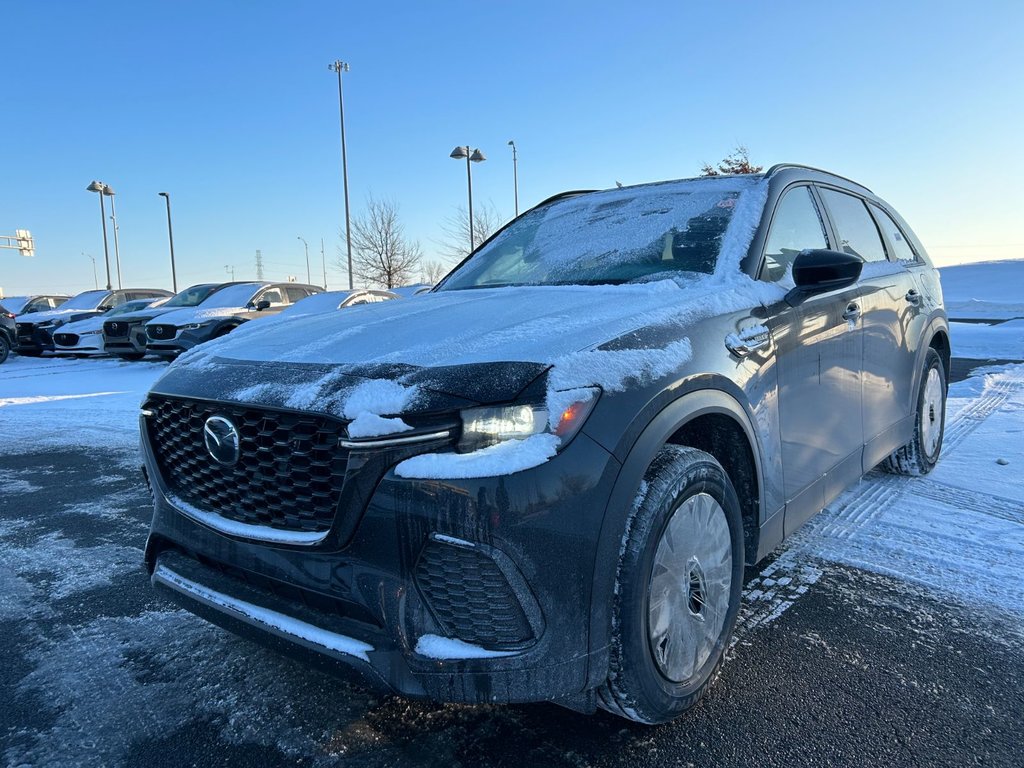
<svg viewBox="0 0 1024 768"><path fill-rule="evenodd" d="M939 461L945 428L946 372L939 353L929 349L925 354L925 368L918 390L913 437L890 454L880 466L886 472L897 475L927 475Z"/></svg>

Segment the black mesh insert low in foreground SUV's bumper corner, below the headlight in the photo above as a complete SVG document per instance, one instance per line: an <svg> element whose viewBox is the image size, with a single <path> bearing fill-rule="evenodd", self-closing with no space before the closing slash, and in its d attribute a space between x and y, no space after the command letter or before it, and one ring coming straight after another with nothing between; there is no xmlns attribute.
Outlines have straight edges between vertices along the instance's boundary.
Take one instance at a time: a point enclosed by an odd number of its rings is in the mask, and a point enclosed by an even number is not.
<svg viewBox="0 0 1024 768"><path fill-rule="evenodd" d="M428 542L416 564L416 582L450 637L487 648L532 637L505 575L479 550Z"/></svg>

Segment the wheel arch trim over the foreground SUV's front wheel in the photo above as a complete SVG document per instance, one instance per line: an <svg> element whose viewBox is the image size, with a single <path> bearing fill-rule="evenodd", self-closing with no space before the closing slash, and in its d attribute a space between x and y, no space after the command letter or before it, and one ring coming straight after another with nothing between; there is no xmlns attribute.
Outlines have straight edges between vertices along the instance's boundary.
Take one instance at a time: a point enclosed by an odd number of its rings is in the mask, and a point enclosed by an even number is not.
<svg viewBox="0 0 1024 768"><path fill-rule="evenodd" d="M590 681L594 685L600 685L607 674L611 600L623 537L641 480L664 445L689 445L718 460L739 497L746 560L752 562L757 557L764 509L757 432L749 411L737 396L741 392L733 394L726 391L726 388L735 388L735 385L713 377L713 386L709 386L708 378L691 380L689 386L684 387L688 391L668 402L648 421L633 441L609 497L595 558L591 604L590 637L594 664ZM741 440L738 451L732 442L736 439Z"/></svg>

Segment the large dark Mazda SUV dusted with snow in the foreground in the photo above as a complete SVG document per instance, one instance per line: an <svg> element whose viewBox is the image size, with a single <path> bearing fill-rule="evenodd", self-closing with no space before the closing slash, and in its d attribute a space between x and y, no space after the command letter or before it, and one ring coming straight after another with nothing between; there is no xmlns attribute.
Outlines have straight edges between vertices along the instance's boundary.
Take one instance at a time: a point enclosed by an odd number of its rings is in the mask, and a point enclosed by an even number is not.
<svg viewBox="0 0 1024 768"><path fill-rule="evenodd" d="M714 679L744 562L876 465L935 465L949 355L925 249L848 179L559 196L416 301L173 366L146 563L411 696L662 722Z"/></svg>

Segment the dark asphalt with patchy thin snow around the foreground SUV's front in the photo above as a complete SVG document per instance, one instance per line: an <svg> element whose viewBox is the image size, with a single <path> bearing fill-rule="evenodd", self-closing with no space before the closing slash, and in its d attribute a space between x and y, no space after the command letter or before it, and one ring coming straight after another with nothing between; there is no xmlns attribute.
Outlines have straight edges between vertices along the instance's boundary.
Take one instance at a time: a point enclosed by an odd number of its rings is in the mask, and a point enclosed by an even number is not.
<svg viewBox="0 0 1024 768"><path fill-rule="evenodd" d="M6 765L1024 764L1019 617L885 575L784 549L749 569L718 684L651 728L409 701L304 669L155 594L147 518L133 452L0 456Z"/></svg>

